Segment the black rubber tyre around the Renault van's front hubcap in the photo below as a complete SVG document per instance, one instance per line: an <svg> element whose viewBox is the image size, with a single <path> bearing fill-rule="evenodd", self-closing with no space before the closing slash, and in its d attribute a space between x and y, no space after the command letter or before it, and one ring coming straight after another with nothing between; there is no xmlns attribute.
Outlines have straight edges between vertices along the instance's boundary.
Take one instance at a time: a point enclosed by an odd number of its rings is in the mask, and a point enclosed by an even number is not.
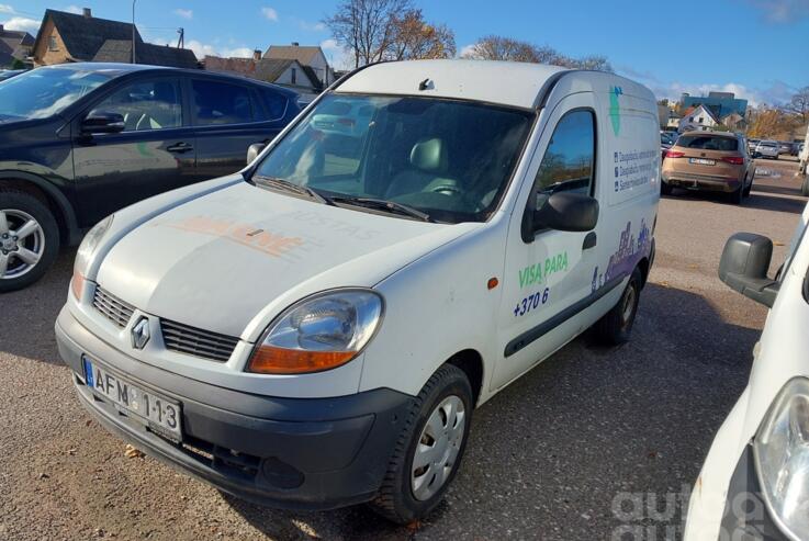
<svg viewBox="0 0 809 541"><path fill-rule="evenodd" d="M465 422L459 452L452 461L451 470L443 485L425 500L415 497L411 484L411 472L416 446L419 443L425 425L441 402L449 396L457 396L463 403ZM447 488L458 473L463 451L469 440L469 427L472 420L472 386L467 374L452 364L442 364L418 393L411 412L407 414L402 432L387 465L387 472L377 498L370 503L371 508L384 518L398 525L408 525L426 517L443 498Z"/></svg>

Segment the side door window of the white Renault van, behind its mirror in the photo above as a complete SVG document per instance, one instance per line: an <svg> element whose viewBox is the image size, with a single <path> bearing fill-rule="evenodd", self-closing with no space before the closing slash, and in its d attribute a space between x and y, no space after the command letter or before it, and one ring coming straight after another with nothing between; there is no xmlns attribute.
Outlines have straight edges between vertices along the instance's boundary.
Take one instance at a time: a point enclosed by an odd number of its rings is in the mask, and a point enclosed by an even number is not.
<svg viewBox="0 0 809 541"><path fill-rule="evenodd" d="M537 171L533 189L538 192L537 208L555 192L589 195L595 162L595 121L591 111L573 111L559 121L542 164Z"/></svg>

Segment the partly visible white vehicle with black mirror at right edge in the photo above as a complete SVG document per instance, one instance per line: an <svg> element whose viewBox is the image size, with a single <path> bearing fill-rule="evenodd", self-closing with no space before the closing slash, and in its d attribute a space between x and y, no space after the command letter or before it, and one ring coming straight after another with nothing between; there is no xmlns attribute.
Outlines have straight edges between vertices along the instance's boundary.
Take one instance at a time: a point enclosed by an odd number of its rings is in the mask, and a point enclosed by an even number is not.
<svg viewBox="0 0 809 541"><path fill-rule="evenodd" d="M786 261L773 243L728 240L719 274L771 307L748 387L722 424L689 501L686 541L809 539L809 206Z"/></svg>

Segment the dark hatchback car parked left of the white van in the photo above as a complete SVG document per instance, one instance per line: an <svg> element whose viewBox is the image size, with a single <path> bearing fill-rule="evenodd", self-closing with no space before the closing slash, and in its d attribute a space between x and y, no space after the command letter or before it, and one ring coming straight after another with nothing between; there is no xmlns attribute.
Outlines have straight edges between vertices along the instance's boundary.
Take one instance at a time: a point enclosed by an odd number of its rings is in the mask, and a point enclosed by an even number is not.
<svg viewBox="0 0 809 541"><path fill-rule="evenodd" d="M66 64L0 83L0 292L116 210L233 173L300 111L297 94L205 71Z"/></svg>

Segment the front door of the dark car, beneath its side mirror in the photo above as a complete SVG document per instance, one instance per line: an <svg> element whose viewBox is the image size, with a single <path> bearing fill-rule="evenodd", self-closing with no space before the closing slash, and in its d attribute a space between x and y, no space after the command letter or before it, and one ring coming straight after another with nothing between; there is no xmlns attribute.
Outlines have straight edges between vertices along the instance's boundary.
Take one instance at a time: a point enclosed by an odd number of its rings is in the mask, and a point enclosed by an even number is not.
<svg viewBox="0 0 809 541"><path fill-rule="evenodd" d="M120 133L93 134L81 122L123 116ZM126 205L195 180L193 128L181 80L148 75L94 101L74 125L74 170L82 226Z"/></svg>

